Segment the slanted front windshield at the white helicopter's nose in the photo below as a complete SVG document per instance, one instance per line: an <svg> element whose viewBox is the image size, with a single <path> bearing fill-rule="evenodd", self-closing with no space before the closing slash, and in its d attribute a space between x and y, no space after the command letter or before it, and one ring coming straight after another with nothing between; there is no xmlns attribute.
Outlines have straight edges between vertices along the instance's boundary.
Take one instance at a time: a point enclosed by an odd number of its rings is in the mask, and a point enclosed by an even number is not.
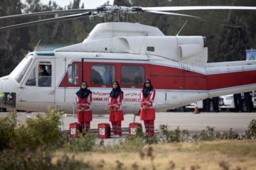
<svg viewBox="0 0 256 170"><path fill-rule="evenodd" d="M24 74L28 70L29 65L32 62L32 58L25 58L21 64L18 64L18 66L14 69L13 72L11 72L10 76L15 79L18 83L21 82L21 79L23 78Z"/></svg>

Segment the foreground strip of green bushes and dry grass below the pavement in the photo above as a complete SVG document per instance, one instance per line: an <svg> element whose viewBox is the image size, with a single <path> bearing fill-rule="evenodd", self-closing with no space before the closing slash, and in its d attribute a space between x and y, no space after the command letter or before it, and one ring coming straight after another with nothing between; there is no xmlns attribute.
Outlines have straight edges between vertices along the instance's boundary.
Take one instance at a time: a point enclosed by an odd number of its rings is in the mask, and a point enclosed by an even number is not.
<svg viewBox="0 0 256 170"><path fill-rule="evenodd" d="M161 137L137 128L136 136L107 146L92 133L69 139L59 120L54 110L22 125L16 113L0 118L0 169L256 169L255 119L242 136L206 127L188 140L187 130L161 125Z"/></svg>

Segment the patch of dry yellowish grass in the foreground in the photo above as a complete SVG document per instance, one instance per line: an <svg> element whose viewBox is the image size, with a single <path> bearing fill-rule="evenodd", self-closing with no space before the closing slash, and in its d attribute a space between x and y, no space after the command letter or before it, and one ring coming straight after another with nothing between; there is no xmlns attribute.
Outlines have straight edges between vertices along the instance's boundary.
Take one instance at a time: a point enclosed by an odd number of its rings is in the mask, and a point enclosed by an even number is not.
<svg viewBox="0 0 256 170"><path fill-rule="evenodd" d="M67 154L95 169L256 169L255 140L164 143L129 151L102 149L106 148L78 154L55 152L53 164Z"/></svg>

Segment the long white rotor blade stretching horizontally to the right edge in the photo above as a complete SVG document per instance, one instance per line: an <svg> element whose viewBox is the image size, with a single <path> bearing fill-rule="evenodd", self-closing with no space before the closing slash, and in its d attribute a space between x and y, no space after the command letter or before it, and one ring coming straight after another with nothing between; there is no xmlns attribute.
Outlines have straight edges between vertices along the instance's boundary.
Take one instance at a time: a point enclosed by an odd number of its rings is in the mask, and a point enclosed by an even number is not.
<svg viewBox="0 0 256 170"><path fill-rule="evenodd" d="M256 10L256 7L255 6L161 6L161 7L142 7L143 11L184 11L184 10L210 10L210 9Z"/></svg>

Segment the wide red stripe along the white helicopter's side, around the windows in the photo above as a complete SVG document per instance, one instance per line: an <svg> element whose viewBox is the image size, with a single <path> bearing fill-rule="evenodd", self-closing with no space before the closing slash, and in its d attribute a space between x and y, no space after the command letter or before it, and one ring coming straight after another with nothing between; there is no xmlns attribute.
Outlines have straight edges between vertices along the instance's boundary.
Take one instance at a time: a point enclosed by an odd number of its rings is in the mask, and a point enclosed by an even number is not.
<svg viewBox="0 0 256 170"><path fill-rule="evenodd" d="M78 84L68 84L68 73L60 81L58 87L79 87L81 83L81 62L73 62L78 64ZM215 89L225 89L233 86L245 86L248 84L256 84L256 71L246 72L228 72L221 74L200 74L198 72L190 71L190 68L175 68L161 66L157 64L134 64L134 63L102 63L102 62L85 62L84 79L90 87L107 87L112 88L111 85L102 86L94 85L90 82L90 69L92 64L112 64L116 67L117 81L120 81L120 69L122 65L142 65L145 67L146 79L151 79L152 85L155 89L169 89L169 90L193 90L193 91L210 91ZM123 86L121 88L142 89L143 86Z"/></svg>

